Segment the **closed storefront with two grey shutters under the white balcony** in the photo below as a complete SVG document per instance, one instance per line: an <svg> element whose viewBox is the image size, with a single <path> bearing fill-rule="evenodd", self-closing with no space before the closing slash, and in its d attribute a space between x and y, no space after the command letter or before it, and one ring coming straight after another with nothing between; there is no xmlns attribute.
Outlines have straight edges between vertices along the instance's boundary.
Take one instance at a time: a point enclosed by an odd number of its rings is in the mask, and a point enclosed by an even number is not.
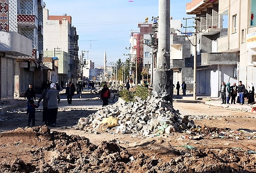
<svg viewBox="0 0 256 173"><path fill-rule="evenodd" d="M13 98L14 60L1 58L1 98Z"/></svg>

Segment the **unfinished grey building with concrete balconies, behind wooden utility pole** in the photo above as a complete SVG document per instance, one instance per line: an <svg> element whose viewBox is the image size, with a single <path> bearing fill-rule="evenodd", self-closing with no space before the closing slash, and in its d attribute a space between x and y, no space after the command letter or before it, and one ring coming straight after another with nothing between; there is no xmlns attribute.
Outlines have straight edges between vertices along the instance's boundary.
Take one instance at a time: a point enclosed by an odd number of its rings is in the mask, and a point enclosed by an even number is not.
<svg viewBox="0 0 256 173"><path fill-rule="evenodd" d="M223 0L225 1L225 0ZM232 4L233 1L231 0ZM240 0L237 0L239 2ZM197 34L197 55L194 55L195 46L191 46L191 59L188 62L194 65L194 56L197 56L197 93L206 94L212 97L219 96L221 82L237 82L235 73L239 60L238 36L231 36L233 39L230 45L232 49L223 50L228 46L227 34L235 33L228 28L223 28L223 14L220 12L223 6L221 0L206 1L192 0L187 3L186 13L196 15L195 31ZM225 1L228 2L228 1ZM231 9L236 9L233 5ZM239 13L239 12L238 12ZM245 21L245 20L244 20ZM237 25L237 24L236 24ZM237 35L235 33L235 35ZM194 44L194 36L190 37Z"/></svg>

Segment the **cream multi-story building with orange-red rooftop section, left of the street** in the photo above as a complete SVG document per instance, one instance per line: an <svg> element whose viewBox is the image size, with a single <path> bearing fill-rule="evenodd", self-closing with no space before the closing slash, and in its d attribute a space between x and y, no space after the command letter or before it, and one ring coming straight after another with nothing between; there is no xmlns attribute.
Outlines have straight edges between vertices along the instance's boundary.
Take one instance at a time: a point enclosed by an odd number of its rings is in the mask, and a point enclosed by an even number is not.
<svg viewBox="0 0 256 173"><path fill-rule="evenodd" d="M69 15L49 15L43 9L44 55L55 57L55 71L49 72L50 80L76 82L80 63L78 60L78 35L76 28L71 27ZM57 66L56 66L57 65Z"/></svg>

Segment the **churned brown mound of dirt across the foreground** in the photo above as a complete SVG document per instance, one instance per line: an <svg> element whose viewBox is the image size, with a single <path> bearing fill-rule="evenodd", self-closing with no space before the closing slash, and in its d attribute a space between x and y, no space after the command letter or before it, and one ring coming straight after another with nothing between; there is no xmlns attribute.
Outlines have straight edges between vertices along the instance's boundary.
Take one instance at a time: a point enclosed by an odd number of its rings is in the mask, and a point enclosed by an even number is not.
<svg viewBox="0 0 256 173"><path fill-rule="evenodd" d="M96 146L86 137L50 133L46 126L17 128L0 134L0 172L4 173L254 172L255 155L244 154L241 149L173 149L170 162L166 162L142 152L131 156L114 141L103 141Z"/></svg>

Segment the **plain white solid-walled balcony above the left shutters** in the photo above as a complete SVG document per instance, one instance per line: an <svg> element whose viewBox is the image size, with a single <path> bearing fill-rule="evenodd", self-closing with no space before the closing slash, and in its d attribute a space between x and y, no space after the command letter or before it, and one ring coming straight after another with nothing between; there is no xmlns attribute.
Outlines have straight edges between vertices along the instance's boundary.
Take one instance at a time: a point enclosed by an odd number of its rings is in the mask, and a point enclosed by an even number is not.
<svg viewBox="0 0 256 173"><path fill-rule="evenodd" d="M31 56L32 41L16 32L0 31L0 50L16 56Z"/></svg>

